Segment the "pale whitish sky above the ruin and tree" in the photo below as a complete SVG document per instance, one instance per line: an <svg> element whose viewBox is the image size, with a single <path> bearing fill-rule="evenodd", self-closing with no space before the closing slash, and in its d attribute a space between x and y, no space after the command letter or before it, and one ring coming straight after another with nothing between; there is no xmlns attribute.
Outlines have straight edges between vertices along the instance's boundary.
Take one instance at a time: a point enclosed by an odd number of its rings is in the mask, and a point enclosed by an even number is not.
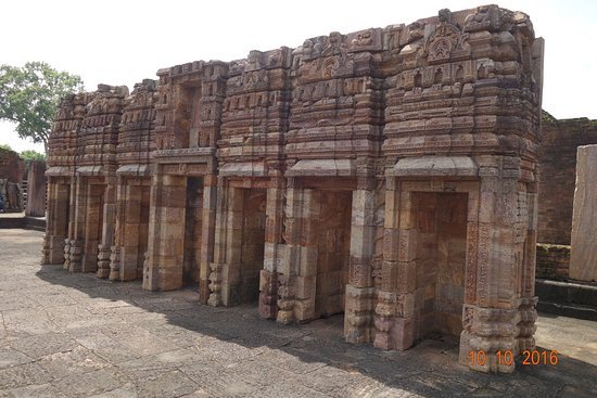
<svg viewBox="0 0 597 398"><path fill-rule="evenodd" d="M155 72L196 60L230 61L250 50L297 47L338 30L408 24L440 9L482 1L7 1L0 64L46 61L78 74L87 90L132 85ZM558 118L597 118L597 1L499 1L531 16L545 39L543 106ZM0 143L35 149L0 123Z"/></svg>

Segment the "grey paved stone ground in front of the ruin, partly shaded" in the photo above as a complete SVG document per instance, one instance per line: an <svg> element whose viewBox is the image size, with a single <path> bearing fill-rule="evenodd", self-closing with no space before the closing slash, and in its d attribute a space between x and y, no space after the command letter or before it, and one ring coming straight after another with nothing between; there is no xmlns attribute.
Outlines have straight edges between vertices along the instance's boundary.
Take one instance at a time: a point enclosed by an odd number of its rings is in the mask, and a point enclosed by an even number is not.
<svg viewBox="0 0 597 398"><path fill-rule="evenodd" d="M304 325L212 308L38 265L41 232L0 230L0 397L595 397L597 324L542 317L557 365L470 372L457 344L404 352L343 342L342 317Z"/></svg>

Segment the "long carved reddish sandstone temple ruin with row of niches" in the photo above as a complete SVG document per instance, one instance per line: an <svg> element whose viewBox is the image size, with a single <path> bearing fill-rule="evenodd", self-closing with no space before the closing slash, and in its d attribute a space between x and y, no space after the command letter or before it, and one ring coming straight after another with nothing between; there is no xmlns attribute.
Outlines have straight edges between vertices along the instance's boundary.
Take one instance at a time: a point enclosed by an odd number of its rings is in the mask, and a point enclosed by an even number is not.
<svg viewBox="0 0 597 398"><path fill-rule="evenodd" d="M459 336L511 372L492 352L535 344L542 69L528 15L486 5L65 98L43 262L343 312L382 349Z"/></svg>

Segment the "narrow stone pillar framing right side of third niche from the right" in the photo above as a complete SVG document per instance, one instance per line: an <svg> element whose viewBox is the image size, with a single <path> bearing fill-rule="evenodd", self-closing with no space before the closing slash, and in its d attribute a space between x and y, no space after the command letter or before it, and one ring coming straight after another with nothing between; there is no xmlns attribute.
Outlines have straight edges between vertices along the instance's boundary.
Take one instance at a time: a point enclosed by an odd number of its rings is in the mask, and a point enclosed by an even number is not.
<svg viewBox="0 0 597 398"><path fill-rule="evenodd" d="M278 262L283 254L282 227L284 180L275 180L267 190L264 268L259 277L259 316L276 319L278 316Z"/></svg>

